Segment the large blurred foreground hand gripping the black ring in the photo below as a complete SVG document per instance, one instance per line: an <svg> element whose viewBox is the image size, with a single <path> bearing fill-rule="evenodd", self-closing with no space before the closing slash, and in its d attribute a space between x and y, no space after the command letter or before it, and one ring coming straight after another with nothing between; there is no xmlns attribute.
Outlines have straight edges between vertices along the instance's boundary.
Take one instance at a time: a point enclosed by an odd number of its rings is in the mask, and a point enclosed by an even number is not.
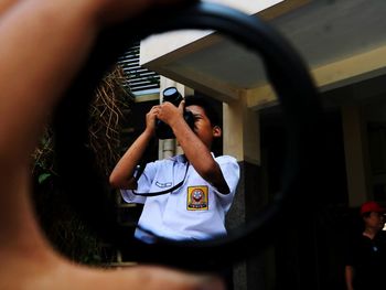
<svg viewBox="0 0 386 290"><path fill-rule="evenodd" d="M0 233L15 241L0 243L7 265L0 269L1 289L223 289L218 280L161 267L107 271L67 261L49 246L28 196L29 161L42 125L99 29L173 2L183 0L0 0Z"/></svg>

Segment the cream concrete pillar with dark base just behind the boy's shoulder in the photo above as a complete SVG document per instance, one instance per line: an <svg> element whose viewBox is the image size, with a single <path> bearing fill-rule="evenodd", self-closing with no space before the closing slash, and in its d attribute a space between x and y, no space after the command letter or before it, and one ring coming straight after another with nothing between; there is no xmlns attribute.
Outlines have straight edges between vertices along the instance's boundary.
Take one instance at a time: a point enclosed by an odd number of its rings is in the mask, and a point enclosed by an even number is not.
<svg viewBox="0 0 386 290"><path fill-rule="evenodd" d="M243 92L244 93L244 92ZM240 165L240 181L227 215L229 230L253 218L261 205L260 132L258 112L247 108L245 94L223 105L224 154L233 155ZM250 257L234 268L235 290L265 289L264 257Z"/></svg>

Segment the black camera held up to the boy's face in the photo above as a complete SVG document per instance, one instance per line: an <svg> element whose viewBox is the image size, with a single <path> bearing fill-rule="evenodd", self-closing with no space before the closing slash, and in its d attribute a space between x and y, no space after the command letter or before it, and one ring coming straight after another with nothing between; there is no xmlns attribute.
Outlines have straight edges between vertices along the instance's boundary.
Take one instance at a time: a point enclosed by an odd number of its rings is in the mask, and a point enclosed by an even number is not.
<svg viewBox="0 0 386 290"><path fill-rule="evenodd" d="M179 90L175 87L168 87L163 90L163 100L172 103L175 107L179 107L181 100L183 100L183 97L179 93ZM191 111L185 110L183 112L183 118L185 122L189 125L189 127L193 130L194 128L194 116ZM169 127L165 122L157 119L156 120L156 136L158 139L171 139L175 138L172 128Z"/></svg>

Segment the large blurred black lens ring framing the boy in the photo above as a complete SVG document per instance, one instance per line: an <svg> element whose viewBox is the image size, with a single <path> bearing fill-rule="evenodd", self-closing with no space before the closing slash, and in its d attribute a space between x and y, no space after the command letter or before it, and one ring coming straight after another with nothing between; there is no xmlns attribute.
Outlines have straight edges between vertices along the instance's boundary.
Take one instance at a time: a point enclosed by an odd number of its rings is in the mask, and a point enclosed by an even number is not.
<svg viewBox="0 0 386 290"><path fill-rule="evenodd" d="M151 34L182 29L215 30L259 54L268 78L277 92L288 132L282 190L256 213L255 218L227 237L204 241L158 239L137 243L131 253L139 261L182 262L192 253L222 264L259 253L277 235L278 217L302 194L312 150L314 129L320 122L318 92L301 57L267 23L228 7L196 2L189 6L148 10L144 14L110 28L100 34L88 62L54 114L55 153L63 185L72 205L105 239L125 248L125 229L115 219L108 185L95 170L95 158L87 146L88 106L105 72L130 44Z"/></svg>

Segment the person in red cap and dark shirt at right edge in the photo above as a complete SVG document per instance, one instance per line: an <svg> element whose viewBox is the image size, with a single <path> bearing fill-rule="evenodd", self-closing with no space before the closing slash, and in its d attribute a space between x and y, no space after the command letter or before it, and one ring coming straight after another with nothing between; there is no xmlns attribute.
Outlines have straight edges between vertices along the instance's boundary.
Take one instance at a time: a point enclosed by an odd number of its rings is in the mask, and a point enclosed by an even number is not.
<svg viewBox="0 0 386 290"><path fill-rule="evenodd" d="M345 281L347 290L371 290L384 283L386 273L386 208L376 202L361 206L364 230L347 243Z"/></svg>

